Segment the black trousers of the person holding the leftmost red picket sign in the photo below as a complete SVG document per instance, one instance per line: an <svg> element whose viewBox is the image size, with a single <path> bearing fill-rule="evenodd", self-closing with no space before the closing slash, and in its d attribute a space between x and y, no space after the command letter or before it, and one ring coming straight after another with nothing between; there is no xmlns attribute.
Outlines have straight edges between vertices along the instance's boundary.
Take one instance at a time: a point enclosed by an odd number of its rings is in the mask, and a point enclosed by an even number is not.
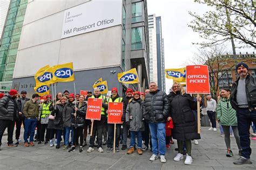
<svg viewBox="0 0 256 170"><path fill-rule="evenodd" d="M98 137L98 146L97 147L98 148L102 147L103 128L104 128L104 119L95 120L93 122L93 128L92 128L92 134L90 137L90 146L89 147L94 147L96 131L97 131L97 137Z"/></svg>

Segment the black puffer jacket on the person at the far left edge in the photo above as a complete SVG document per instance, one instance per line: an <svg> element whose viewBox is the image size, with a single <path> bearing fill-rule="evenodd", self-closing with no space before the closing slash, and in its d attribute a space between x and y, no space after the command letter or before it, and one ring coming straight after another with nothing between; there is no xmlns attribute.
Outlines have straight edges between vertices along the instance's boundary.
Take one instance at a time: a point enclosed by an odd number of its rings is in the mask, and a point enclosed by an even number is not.
<svg viewBox="0 0 256 170"><path fill-rule="evenodd" d="M0 119L2 120L17 120L18 108L17 103L9 94L6 94L0 99Z"/></svg>

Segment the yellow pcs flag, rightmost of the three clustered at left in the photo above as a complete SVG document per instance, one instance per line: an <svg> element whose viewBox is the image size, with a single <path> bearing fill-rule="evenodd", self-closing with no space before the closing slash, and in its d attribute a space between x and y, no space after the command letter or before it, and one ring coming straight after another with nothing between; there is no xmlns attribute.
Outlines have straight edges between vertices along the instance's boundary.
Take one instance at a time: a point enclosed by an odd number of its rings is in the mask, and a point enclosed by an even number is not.
<svg viewBox="0 0 256 170"><path fill-rule="evenodd" d="M73 63L59 64L52 66L54 82L68 82L75 80Z"/></svg>

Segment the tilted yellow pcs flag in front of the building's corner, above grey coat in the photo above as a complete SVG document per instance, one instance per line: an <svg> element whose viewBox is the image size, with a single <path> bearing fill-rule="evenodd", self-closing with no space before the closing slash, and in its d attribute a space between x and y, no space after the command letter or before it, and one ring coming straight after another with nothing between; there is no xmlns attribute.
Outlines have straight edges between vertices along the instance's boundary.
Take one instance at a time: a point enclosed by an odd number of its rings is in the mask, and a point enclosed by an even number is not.
<svg viewBox="0 0 256 170"><path fill-rule="evenodd" d="M135 68L117 74L120 83L134 84L139 83L139 77Z"/></svg>

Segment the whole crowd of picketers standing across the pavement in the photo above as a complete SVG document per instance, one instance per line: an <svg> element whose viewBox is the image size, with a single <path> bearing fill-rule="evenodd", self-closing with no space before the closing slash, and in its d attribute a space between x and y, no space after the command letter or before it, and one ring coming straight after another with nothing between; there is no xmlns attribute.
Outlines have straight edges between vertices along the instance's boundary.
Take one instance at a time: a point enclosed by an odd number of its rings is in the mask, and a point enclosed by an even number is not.
<svg viewBox="0 0 256 170"><path fill-rule="evenodd" d="M206 111L211 121L209 130L217 131L218 121L225 137L226 156L233 156L230 137L234 135L240 155L234 164L252 164L250 126L252 123L254 126L256 124L256 79L248 74L245 63L239 63L236 70L238 80L234 82L232 90L220 90L218 103L210 94L206 97ZM56 97L48 95L45 100L39 100L38 94L33 94L32 99L29 99L26 91L21 91L17 97L18 92L10 90L8 94L0 94L0 150L5 129L8 129L7 147L16 147L21 142L23 125L24 147L34 146L37 141L38 145L45 144L60 149L60 142L63 140L64 150L73 152L78 147L79 152L83 152L83 148L87 146L87 135L90 134L88 153L93 152L95 147L98 152L104 152L103 145L107 146L106 152L111 152L113 147L119 152L119 144L122 144L121 149L127 149L127 154L137 150L142 155L151 148L150 161L160 158L163 163L166 162L166 148L173 144L172 139L176 139L178 153L173 160L184 159L185 149L184 164L190 165L193 162L192 141L198 144L197 140L200 139L197 103L201 106L203 101L201 97L187 94L178 82L173 83L171 90L167 95L158 90L156 83L151 82L145 93L128 88L124 97L119 96L116 87L111 89L111 96L100 94L96 87L93 92L88 91L87 96L65 90L64 93L58 92ZM102 99L100 120L85 119L88 98ZM123 124L116 125L115 137L114 124L107 124L109 102L123 103ZM254 133L255 131L254 129ZM129 136L130 145L127 147Z"/></svg>

